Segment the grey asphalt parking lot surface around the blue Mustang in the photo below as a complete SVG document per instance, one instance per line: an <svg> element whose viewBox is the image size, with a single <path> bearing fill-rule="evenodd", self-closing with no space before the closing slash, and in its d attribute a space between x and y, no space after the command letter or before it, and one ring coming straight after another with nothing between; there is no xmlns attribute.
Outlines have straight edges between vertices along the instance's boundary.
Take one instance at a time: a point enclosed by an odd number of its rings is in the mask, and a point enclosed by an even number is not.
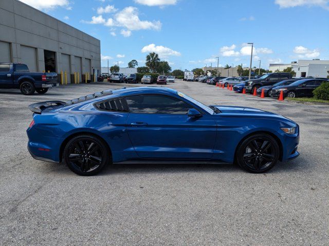
<svg viewBox="0 0 329 246"><path fill-rule="evenodd" d="M167 85L207 105L256 107L295 120L300 157L266 174L191 163L115 165L82 177L30 156L29 104L123 86L135 85L69 85L33 96L0 90L0 245L327 245L329 106L199 82Z"/></svg>

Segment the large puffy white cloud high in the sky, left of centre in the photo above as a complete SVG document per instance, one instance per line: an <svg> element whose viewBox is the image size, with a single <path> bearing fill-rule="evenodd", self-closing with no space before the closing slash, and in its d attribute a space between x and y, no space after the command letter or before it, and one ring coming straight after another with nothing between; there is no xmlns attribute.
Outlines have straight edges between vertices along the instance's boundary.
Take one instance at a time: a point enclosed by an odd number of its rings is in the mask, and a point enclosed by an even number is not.
<svg viewBox="0 0 329 246"><path fill-rule="evenodd" d="M148 20L140 20L138 17L138 10L134 7L126 7L115 15L117 26L125 27L128 30L141 30L141 29L161 29L161 22Z"/></svg>

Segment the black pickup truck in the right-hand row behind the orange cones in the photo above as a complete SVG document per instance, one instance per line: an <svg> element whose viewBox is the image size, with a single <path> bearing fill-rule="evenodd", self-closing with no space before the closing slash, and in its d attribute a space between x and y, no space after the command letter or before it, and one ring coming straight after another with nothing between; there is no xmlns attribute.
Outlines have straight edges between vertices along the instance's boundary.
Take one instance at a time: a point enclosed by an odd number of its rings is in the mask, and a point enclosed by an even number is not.
<svg viewBox="0 0 329 246"><path fill-rule="evenodd" d="M245 90L247 93L253 93L254 89L262 86L271 86L282 80L291 79L291 73L267 73L260 78L250 79L245 82Z"/></svg>

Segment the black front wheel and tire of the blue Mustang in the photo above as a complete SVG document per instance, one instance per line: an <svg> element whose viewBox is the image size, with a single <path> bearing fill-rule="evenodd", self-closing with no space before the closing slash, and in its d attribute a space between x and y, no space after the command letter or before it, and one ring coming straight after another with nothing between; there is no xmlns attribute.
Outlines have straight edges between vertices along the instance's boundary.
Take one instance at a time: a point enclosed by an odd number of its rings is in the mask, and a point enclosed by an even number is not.
<svg viewBox="0 0 329 246"><path fill-rule="evenodd" d="M239 166L251 173L264 173L276 165L280 156L278 142L266 133L247 137L237 147L235 159Z"/></svg>

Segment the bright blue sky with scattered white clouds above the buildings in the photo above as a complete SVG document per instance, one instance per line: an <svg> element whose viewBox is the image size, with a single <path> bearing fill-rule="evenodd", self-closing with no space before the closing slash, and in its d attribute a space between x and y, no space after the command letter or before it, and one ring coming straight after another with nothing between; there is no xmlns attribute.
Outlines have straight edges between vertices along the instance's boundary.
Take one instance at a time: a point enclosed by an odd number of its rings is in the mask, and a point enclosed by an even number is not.
<svg viewBox="0 0 329 246"><path fill-rule="evenodd" d="M329 0L23 0L101 40L102 66L152 51L173 69L329 59Z"/></svg>

